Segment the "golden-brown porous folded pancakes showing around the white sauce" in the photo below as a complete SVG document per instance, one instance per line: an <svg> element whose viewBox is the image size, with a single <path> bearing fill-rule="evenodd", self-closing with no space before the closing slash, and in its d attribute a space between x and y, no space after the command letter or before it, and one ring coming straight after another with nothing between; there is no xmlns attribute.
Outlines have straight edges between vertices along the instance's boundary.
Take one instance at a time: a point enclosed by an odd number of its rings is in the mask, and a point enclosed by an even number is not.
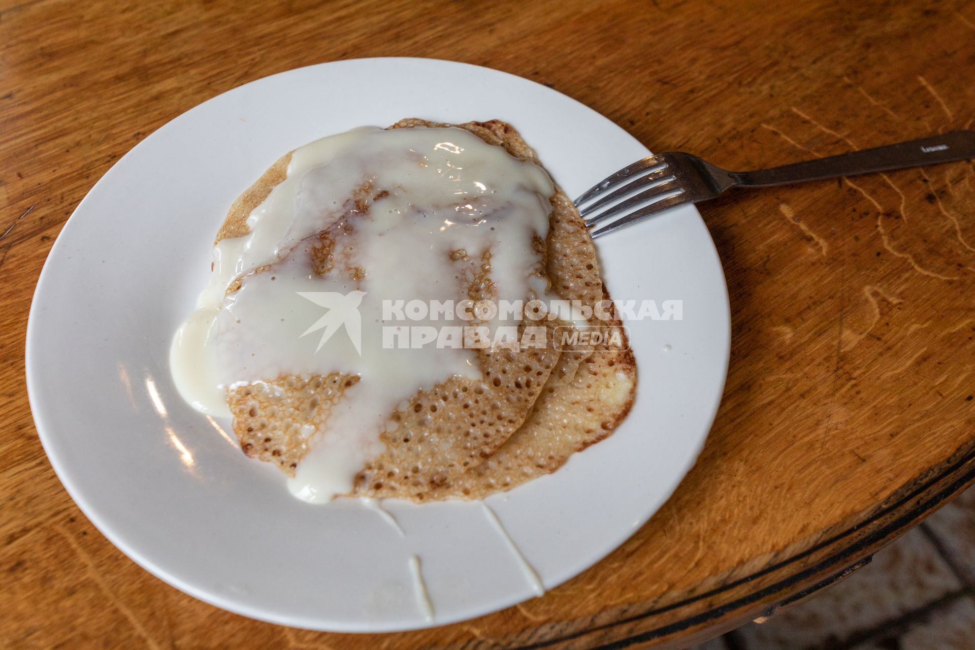
<svg viewBox="0 0 975 650"><path fill-rule="evenodd" d="M404 120L391 129L448 128L454 125ZM456 125L511 156L537 165L534 152L510 125L499 121ZM216 242L248 234L248 216L287 177L292 154L279 159L233 204ZM356 219L383 200L368 185L345 199L346 218L302 242L292 255L310 255L316 273L345 273L352 279L368 270L348 268L342 238ZM535 242L536 274L548 294L594 306L608 299L596 251L582 219L556 186L549 198L549 228ZM381 205L381 204L379 204ZM303 248L302 248L303 247ZM300 249L300 250L299 250ZM339 251L339 252L336 252ZM458 277L472 299L490 297L487 258L457 254ZM274 273L275 264L254 270ZM487 272L485 272L487 273ZM241 288L243 280L228 287ZM542 297L527 295L526 299ZM518 352L477 350L482 377L457 375L401 403L381 432L383 451L363 467L349 495L399 497L414 501L481 498L530 478L554 472L569 455L603 440L625 417L633 401L636 364L618 317L590 319L620 334L616 344L595 349L554 347L561 320L545 320L546 346ZM523 324L524 326L524 324ZM227 391L233 429L246 453L270 461L293 476L315 442L313 434L346 391L368 390L355 375L332 372L307 377L285 375L238 383Z"/></svg>

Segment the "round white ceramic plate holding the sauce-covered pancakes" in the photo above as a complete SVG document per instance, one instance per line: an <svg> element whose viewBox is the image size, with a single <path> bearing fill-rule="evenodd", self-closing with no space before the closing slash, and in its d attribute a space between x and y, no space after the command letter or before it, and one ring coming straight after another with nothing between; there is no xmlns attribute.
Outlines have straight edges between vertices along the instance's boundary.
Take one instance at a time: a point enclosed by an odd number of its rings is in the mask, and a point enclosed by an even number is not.
<svg viewBox="0 0 975 650"><path fill-rule="evenodd" d="M218 607L315 630L426 627L411 554L434 624L532 596L479 504L387 502L401 538L356 502L300 502L276 469L180 400L170 378L171 337L207 280L233 199L296 146L403 117L506 120L570 196L648 153L575 100L495 70L422 58L323 63L216 96L145 138L78 206L41 273L27 388L51 464L115 546ZM598 249L614 298L683 300L683 320L628 324L638 396L608 440L488 500L547 588L663 504L707 437L727 366L727 292L696 210L608 235Z"/></svg>

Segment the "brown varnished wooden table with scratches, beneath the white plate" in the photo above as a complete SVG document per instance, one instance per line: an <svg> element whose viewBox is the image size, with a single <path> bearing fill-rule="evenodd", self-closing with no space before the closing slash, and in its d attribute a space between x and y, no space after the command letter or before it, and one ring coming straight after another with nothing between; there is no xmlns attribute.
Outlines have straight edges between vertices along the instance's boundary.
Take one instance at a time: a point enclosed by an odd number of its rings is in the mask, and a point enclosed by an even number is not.
<svg viewBox="0 0 975 650"><path fill-rule="evenodd" d="M970 127L975 3L928 4L0 0L0 646L682 647L872 554L975 478L970 163L705 205L733 334L696 467L594 568L435 630L289 630L138 568L44 457L24 329L45 256L98 177L258 77L346 57L468 61L573 96L654 150L753 169Z"/></svg>

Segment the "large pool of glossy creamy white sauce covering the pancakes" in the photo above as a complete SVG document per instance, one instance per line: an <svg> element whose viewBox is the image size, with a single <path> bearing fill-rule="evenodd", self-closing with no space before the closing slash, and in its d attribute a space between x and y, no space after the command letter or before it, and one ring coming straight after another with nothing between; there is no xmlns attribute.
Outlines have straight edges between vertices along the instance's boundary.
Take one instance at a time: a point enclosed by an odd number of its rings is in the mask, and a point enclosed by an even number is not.
<svg viewBox="0 0 975 650"><path fill-rule="evenodd" d="M310 249L318 234L365 185L368 215L350 221L332 271L315 273ZM532 237L548 231L553 188L541 168L460 129L364 128L298 148L286 179L248 217L249 234L215 247L211 282L171 348L179 393L205 413L226 416L226 389L238 382L359 375L325 426L309 432L310 449L289 480L292 494L315 503L351 491L356 474L382 452L379 434L398 404L451 375L481 378L471 350L383 348L383 300L466 298L463 263L450 258L458 249L478 267L490 249L495 300L537 294ZM351 267L365 277L354 278ZM225 295L237 278L241 287ZM354 317L333 324L319 350L329 325L309 330L335 311L333 302L313 299L325 292L344 298L351 311L338 311ZM428 317L402 325L466 324ZM359 350L351 328L361 329Z"/></svg>

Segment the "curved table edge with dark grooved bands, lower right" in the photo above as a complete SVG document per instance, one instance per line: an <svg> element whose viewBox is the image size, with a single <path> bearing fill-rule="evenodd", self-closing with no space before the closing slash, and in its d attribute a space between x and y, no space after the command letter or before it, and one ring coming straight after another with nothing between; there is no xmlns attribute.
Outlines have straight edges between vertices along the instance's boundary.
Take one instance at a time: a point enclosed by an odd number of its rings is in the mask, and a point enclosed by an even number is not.
<svg viewBox="0 0 975 650"><path fill-rule="evenodd" d="M760 568L740 576L735 575L738 569L730 572L722 577L724 582L720 586L702 593L683 593L667 604L629 605L617 610L620 616L616 620L557 638L506 647L513 650L620 650L637 645L683 648L707 640L757 618L772 616L780 607L799 602L845 578L866 565L871 555L972 484L975 484L975 440L956 449L943 463L901 485L878 506L762 558ZM702 600L708 603L704 611L699 606Z"/></svg>

